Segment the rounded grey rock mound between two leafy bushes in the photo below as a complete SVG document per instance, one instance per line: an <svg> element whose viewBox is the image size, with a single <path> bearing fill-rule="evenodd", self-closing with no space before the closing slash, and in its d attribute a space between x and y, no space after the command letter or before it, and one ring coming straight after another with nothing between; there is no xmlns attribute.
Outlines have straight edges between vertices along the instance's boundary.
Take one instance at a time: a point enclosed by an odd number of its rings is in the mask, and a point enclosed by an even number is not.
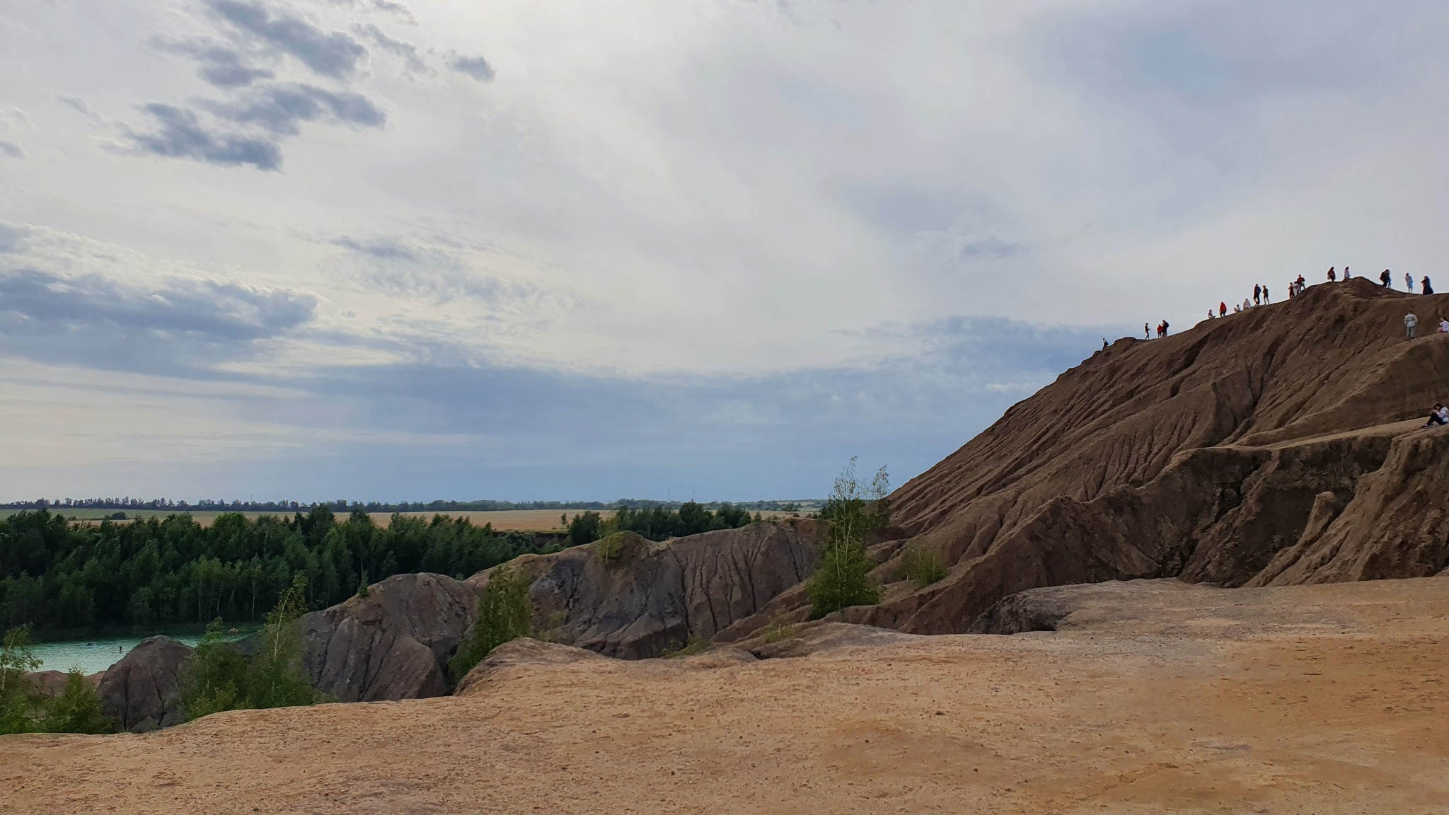
<svg viewBox="0 0 1449 815"><path fill-rule="evenodd" d="M394 574L300 621L313 684L341 702L448 693L445 664L472 622L475 590L442 574Z"/></svg>

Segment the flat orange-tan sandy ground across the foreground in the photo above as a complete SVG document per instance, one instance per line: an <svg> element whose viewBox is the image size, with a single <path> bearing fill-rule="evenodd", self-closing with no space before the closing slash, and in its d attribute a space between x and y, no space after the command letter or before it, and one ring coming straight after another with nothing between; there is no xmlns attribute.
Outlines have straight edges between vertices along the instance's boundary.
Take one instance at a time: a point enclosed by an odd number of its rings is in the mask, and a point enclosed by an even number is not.
<svg viewBox="0 0 1449 815"><path fill-rule="evenodd" d="M1082 625L4 737L0 809L1449 811L1449 577L1190 592Z"/></svg>

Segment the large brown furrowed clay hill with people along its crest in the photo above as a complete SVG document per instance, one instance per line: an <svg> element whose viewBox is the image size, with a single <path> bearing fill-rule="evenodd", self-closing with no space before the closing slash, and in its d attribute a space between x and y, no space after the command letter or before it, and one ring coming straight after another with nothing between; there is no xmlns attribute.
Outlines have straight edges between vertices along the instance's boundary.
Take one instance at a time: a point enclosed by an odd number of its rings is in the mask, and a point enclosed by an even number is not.
<svg viewBox="0 0 1449 815"><path fill-rule="evenodd" d="M1166 339L1119 339L900 487L893 524L951 573L842 616L964 632L1040 586L1445 570L1449 429L1420 425L1449 402L1449 335L1406 341L1410 312L1433 331L1449 300L1353 280Z"/></svg>

